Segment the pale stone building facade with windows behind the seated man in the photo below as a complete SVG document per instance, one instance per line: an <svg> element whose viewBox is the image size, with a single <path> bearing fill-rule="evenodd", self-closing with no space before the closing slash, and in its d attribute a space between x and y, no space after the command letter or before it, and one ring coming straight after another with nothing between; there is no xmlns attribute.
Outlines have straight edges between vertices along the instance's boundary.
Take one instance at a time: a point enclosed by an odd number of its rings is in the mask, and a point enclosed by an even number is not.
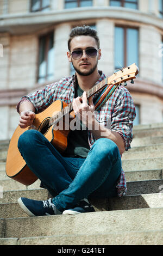
<svg viewBox="0 0 163 256"><path fill-rule="evenodd" d="M135 125L162 122L163 0L0 0L0 139L18 125L21 96L73 73L67 39L80 25L97 30L106 76L139 66L127 87Z"/></svg>

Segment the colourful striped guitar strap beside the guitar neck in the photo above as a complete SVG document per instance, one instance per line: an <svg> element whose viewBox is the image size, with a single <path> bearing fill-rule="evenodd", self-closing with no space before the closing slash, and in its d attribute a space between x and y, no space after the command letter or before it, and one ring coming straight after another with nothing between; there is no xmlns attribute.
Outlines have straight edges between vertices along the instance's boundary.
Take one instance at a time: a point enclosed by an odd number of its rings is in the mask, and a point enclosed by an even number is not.
<svg viewBox="0 0 163 256"><path fill-rule="evenodd" d="M115 92L116 88L119 86L115 86L114 84L111 84L109 86L106 86L105 89L102 91L102 93L97 97L96 101L93 102L95 105L95 110L98 111L102 105L109 99L109 97L112 95L112 93Z"/></svg>

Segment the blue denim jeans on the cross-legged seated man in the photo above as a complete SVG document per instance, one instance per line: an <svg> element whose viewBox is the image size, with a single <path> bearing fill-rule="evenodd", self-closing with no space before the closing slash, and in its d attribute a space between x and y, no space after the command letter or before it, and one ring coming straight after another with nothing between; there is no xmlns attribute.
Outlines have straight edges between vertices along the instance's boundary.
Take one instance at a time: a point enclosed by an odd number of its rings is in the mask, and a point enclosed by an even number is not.
<svg viewBox="0 0 163 256"><path fill-rule="evenodd" d="M52 201L59 211L70 209L81 199L117 196L121 155L108 138L99 138L86 159L63 157L39 131L25 131L18 149L32 172L57 194Z"/></svg>

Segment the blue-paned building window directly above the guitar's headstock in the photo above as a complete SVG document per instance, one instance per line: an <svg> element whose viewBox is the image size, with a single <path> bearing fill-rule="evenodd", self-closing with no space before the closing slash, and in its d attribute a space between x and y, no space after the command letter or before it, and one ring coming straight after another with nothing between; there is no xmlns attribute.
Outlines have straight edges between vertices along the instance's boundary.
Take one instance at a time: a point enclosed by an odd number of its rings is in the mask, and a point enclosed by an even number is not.
<svg viewBox="0 0 163 256"><path fill-rule="evenodd" d="M133 63L139 66L139 30L115 27L115 70Z"/></svg>

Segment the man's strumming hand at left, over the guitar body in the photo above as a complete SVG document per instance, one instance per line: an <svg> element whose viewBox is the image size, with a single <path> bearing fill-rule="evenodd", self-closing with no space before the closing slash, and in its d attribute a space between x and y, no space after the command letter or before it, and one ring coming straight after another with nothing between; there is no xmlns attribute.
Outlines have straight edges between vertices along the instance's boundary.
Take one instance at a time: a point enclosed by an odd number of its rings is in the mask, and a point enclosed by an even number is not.
<svg viewBox="0 0 163 256"><path fill-rule="evenodd" d="M33 124L33 120L35 119L35 113L33 111L22 111L20 113L20 119L18 125L25 129L28 126Z"/></svg>

